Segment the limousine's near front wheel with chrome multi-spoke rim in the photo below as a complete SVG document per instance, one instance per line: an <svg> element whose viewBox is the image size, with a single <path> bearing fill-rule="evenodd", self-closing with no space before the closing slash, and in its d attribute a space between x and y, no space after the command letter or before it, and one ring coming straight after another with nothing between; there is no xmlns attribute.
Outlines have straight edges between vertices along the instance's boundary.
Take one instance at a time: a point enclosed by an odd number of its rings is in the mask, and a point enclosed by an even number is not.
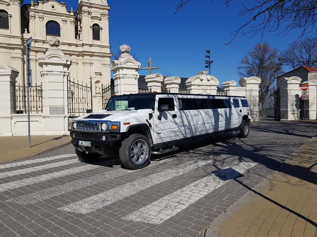
<svg viewBox="0 0 317 237"><path fill-rule="evenodd" d="M141 169L150 161L150 142L147 137L142 134L132 134L123 140L119 150L119 156L124 167L129 169Z"/></svg>

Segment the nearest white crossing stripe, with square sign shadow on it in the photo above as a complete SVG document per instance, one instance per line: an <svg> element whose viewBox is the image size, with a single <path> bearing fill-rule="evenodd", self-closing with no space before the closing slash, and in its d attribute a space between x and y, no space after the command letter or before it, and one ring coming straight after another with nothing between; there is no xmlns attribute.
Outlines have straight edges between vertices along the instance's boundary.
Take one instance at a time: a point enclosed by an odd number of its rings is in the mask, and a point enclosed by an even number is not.
<svg viewBox="0 0 317 237"><path fill-rule="evenodd" d="M122 219L161 224L255 165L256 163L253 162L234 163L231 166L225 167L182 189L168 194Z"/></svg>

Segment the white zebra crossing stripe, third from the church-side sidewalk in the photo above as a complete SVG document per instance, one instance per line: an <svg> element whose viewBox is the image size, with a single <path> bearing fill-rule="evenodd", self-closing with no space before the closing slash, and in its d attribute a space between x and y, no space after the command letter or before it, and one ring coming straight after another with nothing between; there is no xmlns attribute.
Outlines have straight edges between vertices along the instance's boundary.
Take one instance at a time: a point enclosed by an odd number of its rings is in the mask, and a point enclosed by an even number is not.
<svg viewBox="0 0 317 237"><path fill-rule="evenodd" d="M62 171L58 171L54 173L48 173L48 174L31 177L28 179L20 179L20 180L8 182L8 183L0 184L0 192L6 191L9 189L20 188L26 185L40 183L43 181L59 178L59 177L74 174L74 173L79 173L79 172L95 169L95 168L98 168L99 165L103 165L109 162L110 161L106 161L106 162L104 161L104 162L99 162L95 164L86 164L80 167L74 167L74 168L70 168L70 169L66 169L66 170L62 170Z"/></svg>

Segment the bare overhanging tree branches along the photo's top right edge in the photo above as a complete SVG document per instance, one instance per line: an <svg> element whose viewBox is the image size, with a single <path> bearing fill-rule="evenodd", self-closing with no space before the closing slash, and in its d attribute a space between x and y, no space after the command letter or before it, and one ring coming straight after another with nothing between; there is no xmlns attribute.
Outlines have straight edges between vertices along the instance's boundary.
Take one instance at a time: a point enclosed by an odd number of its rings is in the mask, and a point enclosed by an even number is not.
<svg viewBox="0 0 317 237"><path fill-rule="evenodd" d="M176 14L178 10L182 9L190 0L173 1L178 1L175 5L174 14ZM210 2L212 1L213 0L210 0ZM232 0L223 1L223 4L228 7ZM312 33L315 30L317 19L316 9L316 0L244 1L238 16L246 15L248 16L248 20L232 34L233 37L227 44L230 44L240 32L243 35L251 33L252 37L256 33L260 33L263 38L265 31L274 32L277 30L280 30L277 34L281 35L281 37L292 30L299 30L300 33L296 40L296 42L298 42L305 34ZM242 32L243 30L245 30L245 32Z"/></svg>

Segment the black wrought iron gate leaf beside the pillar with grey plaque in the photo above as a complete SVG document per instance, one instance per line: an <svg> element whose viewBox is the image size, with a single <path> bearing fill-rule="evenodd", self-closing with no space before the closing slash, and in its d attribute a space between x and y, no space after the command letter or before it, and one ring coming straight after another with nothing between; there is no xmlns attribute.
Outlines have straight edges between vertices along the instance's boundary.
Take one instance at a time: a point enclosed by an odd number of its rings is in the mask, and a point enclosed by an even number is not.
<svg viewBox="0 0 317 237"><path fill-rule="evenodd" d="M67 98L68 98L68 122L85 113L91 113L93 110L92 100L92 82L85 84L75 82L75 79L67 80Z"/></svg>

